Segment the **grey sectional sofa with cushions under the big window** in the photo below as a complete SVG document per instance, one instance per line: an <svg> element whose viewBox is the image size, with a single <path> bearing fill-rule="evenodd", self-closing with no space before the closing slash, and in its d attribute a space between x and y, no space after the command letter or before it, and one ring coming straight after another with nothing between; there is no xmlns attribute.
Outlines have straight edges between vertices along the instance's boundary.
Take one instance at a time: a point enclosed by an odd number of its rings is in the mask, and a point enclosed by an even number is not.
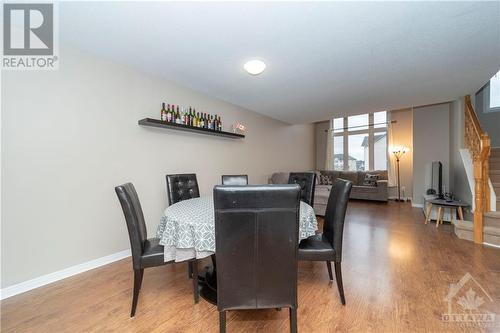
<svg viewBox="0 0 500 333"><path fill-rule="evenodd" d="M378 175L375 186L363 185L366 174ZM316 215L324 215L326 203L332 188L331 183L337 179L347 179L353 182L351 199L386 201L387 194L387 171L316 171L316 189L314 191L314 210ZM286 184L288 173L277 172L269 179L270 184Z"/></svg>

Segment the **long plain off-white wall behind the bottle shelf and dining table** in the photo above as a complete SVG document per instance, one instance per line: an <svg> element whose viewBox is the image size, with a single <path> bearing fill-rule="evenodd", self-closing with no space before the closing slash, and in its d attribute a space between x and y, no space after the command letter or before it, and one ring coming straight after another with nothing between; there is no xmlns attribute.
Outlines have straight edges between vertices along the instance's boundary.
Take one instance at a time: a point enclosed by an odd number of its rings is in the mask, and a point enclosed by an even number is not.
<svg viewBox="0 0 500 333"><path fill-rule="evenodd" d="M313 125L251 111L61 48L53 72L2 76L2 287L129 247L114 186L136 185L150 236L166 207L165 174L195 172L202 195L224 173L266 183L314 167ZM168 61L168 59L165 59ZM160 103L247 125L244 140L143 128Z"/></svg>

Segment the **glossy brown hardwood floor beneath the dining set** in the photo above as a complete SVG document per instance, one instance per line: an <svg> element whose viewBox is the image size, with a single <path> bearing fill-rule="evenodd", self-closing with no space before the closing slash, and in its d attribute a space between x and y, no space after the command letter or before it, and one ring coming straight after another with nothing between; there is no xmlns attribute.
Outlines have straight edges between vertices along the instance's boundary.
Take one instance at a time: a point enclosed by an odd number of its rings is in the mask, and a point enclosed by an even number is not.
<svg viewBox="0 0 500 333"><path fill-rule="evenodd" d="M423 223L408 203L349 204L344 234L346 306L324 262L299 264L301 332L480 331L441 320L450 283L470 273L492 301L500 331L500 249L474 245L451 226ZM125 225L124 225L125 227ZM201 265L200 265L201 268ZM147 269L136 317L129 318L130 259L21 294L1 303L2 332L218 332L215 306L193 304L186 264ZM480 294L477 286L472 287ZM456 305L456 302L455 302ZM458 306L458 305L456 305ZM228 332L288 332L288 311L231 311Z"/></svg>

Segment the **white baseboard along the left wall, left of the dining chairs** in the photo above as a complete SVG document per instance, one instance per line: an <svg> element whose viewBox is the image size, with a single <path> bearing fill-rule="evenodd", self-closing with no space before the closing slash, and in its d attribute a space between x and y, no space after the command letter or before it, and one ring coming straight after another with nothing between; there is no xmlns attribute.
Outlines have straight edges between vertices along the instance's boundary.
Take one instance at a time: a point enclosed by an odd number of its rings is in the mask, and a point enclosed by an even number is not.
<svg viewBox="0 0 500 333"><path fill-rule="evenodd" d="M24 292L45 286L47 284L66 279L70 276L77 275L86 271L89 271L91 269L101 267L107 264L110 264L112 262L118 261L125 259L127 257L130 257L130 249L129 250L124 250L120 251L117 253L110 254L109 256L105 256L102 258L97 258L94 260L90 260L75 266L71 266L65 269L62 269L57 272L49 273L46 275L39 276L37 278L24 281L18 284L14 284L9 287L5 287L0 290L0 300L22 294Z"/></svg>

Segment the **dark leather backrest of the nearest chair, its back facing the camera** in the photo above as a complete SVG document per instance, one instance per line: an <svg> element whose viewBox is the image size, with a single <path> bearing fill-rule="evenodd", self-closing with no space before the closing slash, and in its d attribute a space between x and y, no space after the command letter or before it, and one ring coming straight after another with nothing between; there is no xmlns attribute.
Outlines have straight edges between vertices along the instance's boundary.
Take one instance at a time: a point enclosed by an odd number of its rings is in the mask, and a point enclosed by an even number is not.
<svg viewBox="0 0 500 333"><path fill-rule="evenodd" d="M215 186L217 307L297 306L297 185Z"/></svg>

